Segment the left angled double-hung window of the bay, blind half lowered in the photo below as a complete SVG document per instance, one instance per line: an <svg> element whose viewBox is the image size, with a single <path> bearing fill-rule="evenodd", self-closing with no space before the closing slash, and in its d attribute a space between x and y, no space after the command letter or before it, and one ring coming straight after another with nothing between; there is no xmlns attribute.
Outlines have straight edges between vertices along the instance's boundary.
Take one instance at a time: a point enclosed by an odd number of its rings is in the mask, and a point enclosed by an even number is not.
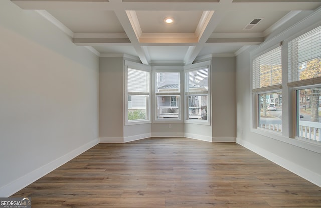
<svg viewBox="0 0 321 208"><path fill-rule="evenodd" d="M150 72L141 64L126 64L126 124L150 122Z"/></svg>

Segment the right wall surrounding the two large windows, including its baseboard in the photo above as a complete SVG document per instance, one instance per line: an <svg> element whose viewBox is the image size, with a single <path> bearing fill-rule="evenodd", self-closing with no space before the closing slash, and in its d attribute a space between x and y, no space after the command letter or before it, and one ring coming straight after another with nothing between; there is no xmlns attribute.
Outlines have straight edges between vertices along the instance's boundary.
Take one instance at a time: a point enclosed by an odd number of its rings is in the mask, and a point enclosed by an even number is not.
<svg viewBox="0 0 321 208"><path fill-rule="evenodd" d="M270 38L269 41L266 41L258 48L248 48L236 58L237 143L319 186L321 186L321 145L310 144L284 136L288 135L288 132L286 132L288 125L283 125L283 136L252 129L250 52L264 51L291 35L304 30L306 27L317 22L321 23L320 16L319 14L313 15L299 22L296 26ZM282 119L288 123L291 119L289 117L291 112L286 107L286 103L290 103L291 100L287 92L282 95L284 95L282 96Z"/></svg>

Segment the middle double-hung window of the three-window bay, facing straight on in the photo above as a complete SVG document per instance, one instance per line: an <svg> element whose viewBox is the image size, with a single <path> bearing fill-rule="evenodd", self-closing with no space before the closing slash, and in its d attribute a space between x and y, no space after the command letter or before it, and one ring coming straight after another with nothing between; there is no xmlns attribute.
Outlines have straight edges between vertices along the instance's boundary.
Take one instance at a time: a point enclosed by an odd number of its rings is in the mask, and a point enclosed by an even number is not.
<svg viewBox="0 0 321 208"><path fill-rule="evenodd" d="M181 72L155 72L156 120L181 120Z"/></svg>

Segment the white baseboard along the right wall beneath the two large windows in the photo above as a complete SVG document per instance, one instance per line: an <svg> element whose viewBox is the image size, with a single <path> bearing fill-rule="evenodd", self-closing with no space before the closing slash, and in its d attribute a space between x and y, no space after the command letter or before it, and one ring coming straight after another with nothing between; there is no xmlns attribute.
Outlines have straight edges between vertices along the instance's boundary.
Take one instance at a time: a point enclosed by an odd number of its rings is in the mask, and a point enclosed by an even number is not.
<svg viewBox="0 0 321 208"><path fill-rule="evenodd" d="M244 146L245 148L257 153L258 155L274 162L275 164L280 165L281 167L293 172L294 174L310 181L311 183L321 187L321 175L312 172L298 164L295 164L289 160L286 160L282 157L277 156L276 154L273 154L265 149L262 149L250 142L244 141L243 139L236 138L236 143Z"/></svg>

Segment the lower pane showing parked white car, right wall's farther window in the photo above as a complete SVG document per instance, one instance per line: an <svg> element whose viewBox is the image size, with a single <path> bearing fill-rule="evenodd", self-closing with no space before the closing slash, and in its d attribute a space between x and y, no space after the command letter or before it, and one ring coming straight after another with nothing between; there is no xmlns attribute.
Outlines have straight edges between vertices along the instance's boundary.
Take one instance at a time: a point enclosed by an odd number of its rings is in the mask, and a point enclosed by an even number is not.
<svg viewBox="0 0 321 208"><path fill-rule="evenodd" d="M282 132L282 92L259 94L259 127Z"/></svg>

